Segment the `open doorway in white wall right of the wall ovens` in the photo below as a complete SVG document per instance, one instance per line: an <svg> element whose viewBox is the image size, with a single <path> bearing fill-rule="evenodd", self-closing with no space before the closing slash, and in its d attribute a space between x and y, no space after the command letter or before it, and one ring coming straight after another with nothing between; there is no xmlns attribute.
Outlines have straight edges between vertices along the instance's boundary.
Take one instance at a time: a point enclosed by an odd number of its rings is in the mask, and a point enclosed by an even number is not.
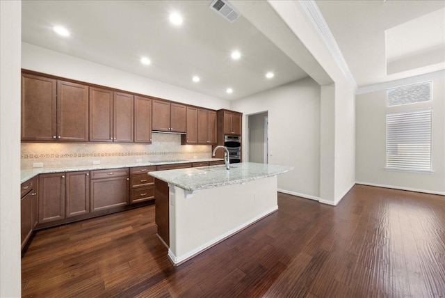
<svg viewBox="0 0 445 298"><path fill-rule="evenodd" d="M268 112L248 116L248 160L268 163Z"/></svg>

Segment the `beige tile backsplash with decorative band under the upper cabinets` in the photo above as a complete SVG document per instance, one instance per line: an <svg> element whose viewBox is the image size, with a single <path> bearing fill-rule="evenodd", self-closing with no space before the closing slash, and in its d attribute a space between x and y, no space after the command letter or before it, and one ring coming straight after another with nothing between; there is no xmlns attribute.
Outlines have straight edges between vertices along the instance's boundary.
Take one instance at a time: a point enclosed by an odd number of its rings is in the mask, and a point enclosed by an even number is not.
<svg viewBox="0 0 445 298"><path fill-rule="evenodd" d="M22 143L22 170L41 162L44 168L150 162L165 159L211 157L211 146L181 145L180 134L152 134L152 144L143 143Z"/></svg>

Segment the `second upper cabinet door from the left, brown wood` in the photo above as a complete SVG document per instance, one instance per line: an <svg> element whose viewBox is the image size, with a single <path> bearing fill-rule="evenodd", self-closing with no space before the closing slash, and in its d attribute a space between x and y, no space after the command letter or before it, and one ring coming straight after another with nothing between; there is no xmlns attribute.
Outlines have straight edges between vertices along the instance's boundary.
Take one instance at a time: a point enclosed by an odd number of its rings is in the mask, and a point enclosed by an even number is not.
<svg viewBox="0 0 445 298"><path fill-rule="evenodd" d="M57 139L88 141L88 86L57 81Z"/></svg>

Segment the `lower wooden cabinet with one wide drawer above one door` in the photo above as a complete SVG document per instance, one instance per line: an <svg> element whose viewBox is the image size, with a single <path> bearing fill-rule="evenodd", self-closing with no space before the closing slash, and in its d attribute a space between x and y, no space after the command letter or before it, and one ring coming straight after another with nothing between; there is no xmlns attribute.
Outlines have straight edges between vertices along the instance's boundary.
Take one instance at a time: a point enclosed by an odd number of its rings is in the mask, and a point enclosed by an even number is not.
<svg viewBox="0 0 445 298"><path fill-rule="evenodd" d="M91 212L129 204L129 169L91 171Z"/></svg>

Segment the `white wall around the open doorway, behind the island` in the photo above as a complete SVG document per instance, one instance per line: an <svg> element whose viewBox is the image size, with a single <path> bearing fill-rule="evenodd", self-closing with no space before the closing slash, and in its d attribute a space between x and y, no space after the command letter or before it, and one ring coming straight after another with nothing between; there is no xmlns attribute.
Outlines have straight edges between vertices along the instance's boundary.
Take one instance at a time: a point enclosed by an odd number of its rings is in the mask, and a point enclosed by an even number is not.
<svg viewBox="0 0 445 298"><path fill-rule="evenodd" d="M319 196L320 86L307 77L232 102L246 114L268 111L269 164L293 166L278 176L278 188L307 198ZM246 139L243 129L243 139ZM247 160L243 151L243 159Z"/></svg>

